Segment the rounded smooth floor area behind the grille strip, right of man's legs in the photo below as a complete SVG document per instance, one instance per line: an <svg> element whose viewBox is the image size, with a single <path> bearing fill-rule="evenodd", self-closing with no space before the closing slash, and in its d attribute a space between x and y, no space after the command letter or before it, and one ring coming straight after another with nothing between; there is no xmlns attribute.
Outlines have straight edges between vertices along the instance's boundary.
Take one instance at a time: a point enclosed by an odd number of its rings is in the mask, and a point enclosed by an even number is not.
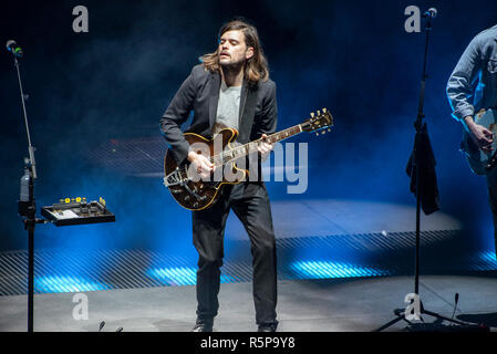
<svg viewBox="0 0 497 354"><path fill-rule="evenodd" d="M271 202L271 210L278 239L382 232L387 235L416 229L415 204L341 199L278 200ZM421 231L460 228L462 223L456 218L442 211L431 216L421 214ZM228 218L226 237L247 239L244 227L234 214Z"/></svg>

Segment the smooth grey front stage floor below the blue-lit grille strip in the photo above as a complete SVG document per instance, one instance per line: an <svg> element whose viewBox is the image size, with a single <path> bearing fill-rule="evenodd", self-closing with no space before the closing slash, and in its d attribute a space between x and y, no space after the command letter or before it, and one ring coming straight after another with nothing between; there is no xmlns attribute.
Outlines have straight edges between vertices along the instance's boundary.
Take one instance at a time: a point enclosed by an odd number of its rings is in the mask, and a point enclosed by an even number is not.
<svg viewBox="0 0 497 354"><path fill-rule="evenodd" d="M413 291L412 277L279 281L278 319L281 332L364 332L394 319ZM454 295L459 293L456 317L497 327L497 278L422 277L420 293L425 308L452 316ZM75 293L37 294L35 331L187 332L195 322L195 287L85 292L89 319L76 321ZM216 332L256 331L251 283L221 284ZM435 319L425 316L425 322ZM0 296L0 331L25 331L27 296ZM401 321L387 331L402 331ZM494 330L494 329L491 329Z"/></svg>

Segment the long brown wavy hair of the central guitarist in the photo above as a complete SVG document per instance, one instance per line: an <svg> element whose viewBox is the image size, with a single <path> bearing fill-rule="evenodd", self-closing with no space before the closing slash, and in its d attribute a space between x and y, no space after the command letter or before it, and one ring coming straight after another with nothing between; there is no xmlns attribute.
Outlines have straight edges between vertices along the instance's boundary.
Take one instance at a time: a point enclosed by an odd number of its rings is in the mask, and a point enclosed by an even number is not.
<svg viewBox="0 0 497 354"><path fill-rule="evenodd" d="M228 31L241 31L245 34L245 43L247 48L253 48L253 55L245 63L244 77L250 84L256 84L259 81L267 81L269 79L268 61L260 45L259 35L253 25L247 23L245 20L237 19L224 24L219 30L218 40ZM204 54L200 61L210 72L219 72L219 45L214 53Z"/></svg>

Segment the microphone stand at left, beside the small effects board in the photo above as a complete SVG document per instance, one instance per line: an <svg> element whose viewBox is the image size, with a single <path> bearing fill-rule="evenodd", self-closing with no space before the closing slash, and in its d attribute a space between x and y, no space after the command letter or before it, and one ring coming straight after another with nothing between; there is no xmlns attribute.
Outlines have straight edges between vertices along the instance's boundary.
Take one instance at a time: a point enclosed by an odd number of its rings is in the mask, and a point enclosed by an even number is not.
<svg viewBox="0 0 497 354"><path fill-rule="evenodd" d="M33 332L33 310L34 310L34 227L37 223L45 223L43 219L37 219L37 205L34 199L34 180L38 178L37 164L34 160L35 148L31 144L31 135L28 124L28 114L25 113L24 93L22 91L21 74L19 71L19 61L13 54L14 65L18 73L19 90L21 92L22 111L24 114L25 133L28 135L29 158L24 158L24 169L29 176L29 199L19 201L19 214L24 223L24 230L28 230L28 332ZM22 188L22 187L21 187Z"/></svg>

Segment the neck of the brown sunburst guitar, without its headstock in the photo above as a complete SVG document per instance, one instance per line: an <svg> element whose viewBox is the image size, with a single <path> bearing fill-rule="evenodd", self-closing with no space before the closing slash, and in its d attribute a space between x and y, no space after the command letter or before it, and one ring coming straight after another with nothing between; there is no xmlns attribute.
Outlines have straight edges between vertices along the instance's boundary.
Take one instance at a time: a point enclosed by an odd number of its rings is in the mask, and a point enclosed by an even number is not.
<svg viewBox="0 0 497 354"><path fill-rule="evenodd" d="M299 125L289 127L284 131L269 135L267 137L267 140L271 144L275 144L275 143L284 140L291 136L298 135L302 132L303 132L302 127L299 124ZM259 138L257 140L247 143L245 145L234 147L229 150L221 152L220 154L213 156L211 162L215 164L215 166L218 166L218 167L226 165L227 163L229 163L234 159L238 159L240 157L245 157L252 153L256 153L258 149L258 146L261 142L262 142L262 138Z"/></svg>

